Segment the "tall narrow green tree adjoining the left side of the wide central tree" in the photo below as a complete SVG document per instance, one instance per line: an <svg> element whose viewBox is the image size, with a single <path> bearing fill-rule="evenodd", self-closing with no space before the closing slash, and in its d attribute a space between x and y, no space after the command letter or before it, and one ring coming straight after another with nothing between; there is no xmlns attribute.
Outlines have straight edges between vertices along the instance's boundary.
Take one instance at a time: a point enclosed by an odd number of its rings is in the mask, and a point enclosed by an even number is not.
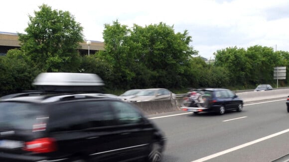
<svg viewBox="0 0 289 162"><path fill-rule="evenodd" d="M133 57L129 56L128 36L130 30L127 25L114 21L113 25L105 24L103 38L106 52L103 56L112 65L111 80L115 86L129 88L128 81L135 76L128 68Z"/></svg>

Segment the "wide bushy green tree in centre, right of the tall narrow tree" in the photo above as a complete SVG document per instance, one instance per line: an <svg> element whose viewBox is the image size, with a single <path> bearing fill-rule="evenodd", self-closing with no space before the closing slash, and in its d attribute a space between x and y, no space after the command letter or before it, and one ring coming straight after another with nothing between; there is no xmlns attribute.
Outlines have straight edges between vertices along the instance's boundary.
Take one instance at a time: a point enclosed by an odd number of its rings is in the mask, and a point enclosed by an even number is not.
<svg viewBox="0 0 289 162"><path fill-rule="evenodd" d="M143 64L156 80L152 84L156 87L181 87L183 74L191 55L197 54L187 30L184 33L174 33L173 26L165 23L141 27L134 25L131 40L131 51L136 60Z"/></svg>

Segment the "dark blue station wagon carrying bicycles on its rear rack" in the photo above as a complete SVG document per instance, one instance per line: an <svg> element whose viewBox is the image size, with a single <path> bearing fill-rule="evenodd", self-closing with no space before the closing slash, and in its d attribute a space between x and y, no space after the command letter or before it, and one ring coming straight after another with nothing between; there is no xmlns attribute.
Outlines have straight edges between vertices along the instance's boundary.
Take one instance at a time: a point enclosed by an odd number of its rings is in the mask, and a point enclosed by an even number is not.
<svg viewBox="0 0 289 162"><path fill-rule="evenodd" d="M229 89L205 88L197 91L203 103L193 102L189 107L182 107L183 111L193 112L217 112L223 115L226 111L243 110L243 100Z"/></svg>

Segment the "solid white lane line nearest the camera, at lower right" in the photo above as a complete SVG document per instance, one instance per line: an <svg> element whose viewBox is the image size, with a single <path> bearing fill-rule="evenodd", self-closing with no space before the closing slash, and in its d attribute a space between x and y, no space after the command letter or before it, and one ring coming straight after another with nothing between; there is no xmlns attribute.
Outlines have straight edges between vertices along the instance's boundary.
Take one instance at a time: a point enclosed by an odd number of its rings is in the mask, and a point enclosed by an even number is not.
<svg viewBox="0 0 289 162"><path fill-rule="evenodd" d="M210 160L210 159L219 157L219 156L221 156L221 155L224 155L224 154L227 154L227 153L230 153L230 152L233 152L233 151L236 151L236 150L245 148L245 147L250 146L250 145L253 145L253 144L256 144L256 143L258 143L258 142L262 142L262 141L268 140L268 139L270 139L270 138L273 138L273 137L282 135L282 134L287 133L287 132L289 132L289 129L286 129L286 130L281 131L281 132L274 133L274 134L272 134L272 135L269 135L269 136L266 136L266 137L263 137L263 138L260 138L260 139L257 139L257 140L248 142L248 143L243 144L243 145L236 146L236 147L234 147L234 148L231 148L231 149L228 149L228 150L225 150L225 151L222 151L222 152L219 152L219 153L216 153L216 154L213 154L213 155L210 155L210 156L207 156L207 157L204 157L204 158L201 158L201 159L192 161L192 162L204 162L204 161L207 161L207 160Z"/></svg>

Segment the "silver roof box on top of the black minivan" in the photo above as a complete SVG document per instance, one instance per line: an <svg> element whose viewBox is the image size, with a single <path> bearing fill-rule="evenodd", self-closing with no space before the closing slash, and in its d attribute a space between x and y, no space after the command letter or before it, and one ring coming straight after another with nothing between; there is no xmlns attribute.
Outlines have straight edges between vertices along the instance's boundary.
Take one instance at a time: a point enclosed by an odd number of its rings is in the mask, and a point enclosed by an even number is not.
<svg viewBox="0 0 289 162"><path fill-rule="evenodd" d="M50 92L101 92L104 85L96 74L88 73L41 73L32 85L38 90Z"/></svg>

